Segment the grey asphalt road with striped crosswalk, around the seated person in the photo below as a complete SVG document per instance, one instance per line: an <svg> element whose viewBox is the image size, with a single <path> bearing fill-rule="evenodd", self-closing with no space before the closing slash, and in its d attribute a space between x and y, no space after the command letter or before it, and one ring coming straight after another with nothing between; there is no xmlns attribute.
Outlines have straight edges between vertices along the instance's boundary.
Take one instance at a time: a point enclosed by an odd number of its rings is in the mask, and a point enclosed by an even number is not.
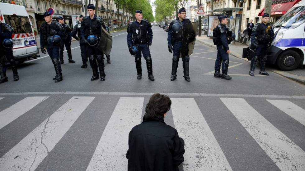
<svg viewBox="0 0 305 171"><path fill-rule="evenodd" d="M275 73L250 77L249 63L230 56L232 80L214 78L214 49L195 45L191 82L170 81L172 54L167 34L153 26L155 81L137 80L126 36L113 33L106 81L91 81L76 63L62 65L54 83L49 56L19 65L20 80L0 84L0 168L4 170L127 170L128 133L141 122L153 92L172 100L165 122L185 140L180 171L305 169L305 86ZM68 61L64 52L65 62Z"/></svg>

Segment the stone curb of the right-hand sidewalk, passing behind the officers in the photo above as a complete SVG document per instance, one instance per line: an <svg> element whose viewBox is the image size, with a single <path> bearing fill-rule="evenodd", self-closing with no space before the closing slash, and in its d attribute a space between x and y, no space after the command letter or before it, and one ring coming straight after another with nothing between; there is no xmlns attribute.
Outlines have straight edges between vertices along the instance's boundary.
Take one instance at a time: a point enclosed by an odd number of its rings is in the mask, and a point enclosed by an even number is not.
<svg viewBox="0 0 305 171"><path fill-rule="evenodd" d="M206 42L204 42L203 40L198 40L198 39L196 39L196 41L198 41L198 42L200 42L200 43L202 43L202 44L204 44L204 45L206 45L206 46L209 46L209 47L212 47L212 48L214 48L214 49L217 49L216 46L215 46L214 44L206 43ZM242 60L247 61L247 62L250 63L250 61L248 61L248 59L239 57L239 56L235 55L235 54L232 53L232 52L230 52L229 55L232 55L232 56L234 56L234 57L237 57L237 58L239 58L239 59L242 59ZM269 69L268 69L268 70L269 70ZM291 79L291 80L293 80L293 81L296 81L296 82L298 82L298 83L301 83L301 84L304 84L304 85L305 85L305 77L298 76L298 75L294 75L294 74L289 74L289 73L287 73L287 72L279 71L279 70L270 70L270 71L273 72L273 73L275 73L275 74L279 74L279 75L281 75L281 76L283 76L283 77L285 77L285 78Z"/></svg>

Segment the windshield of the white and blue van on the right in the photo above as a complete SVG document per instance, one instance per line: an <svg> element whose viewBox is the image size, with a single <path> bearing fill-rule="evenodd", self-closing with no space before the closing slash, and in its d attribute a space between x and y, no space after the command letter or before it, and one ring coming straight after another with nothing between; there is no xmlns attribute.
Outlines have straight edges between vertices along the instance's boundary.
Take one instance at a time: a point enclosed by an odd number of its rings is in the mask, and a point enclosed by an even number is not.
<svg viewBox="0 0 305 171"><path fill-rule="evenodd" d="M294 29L305 22L305 6L294 7L282 16L274 25L275 28L282 27Z"/></svg>

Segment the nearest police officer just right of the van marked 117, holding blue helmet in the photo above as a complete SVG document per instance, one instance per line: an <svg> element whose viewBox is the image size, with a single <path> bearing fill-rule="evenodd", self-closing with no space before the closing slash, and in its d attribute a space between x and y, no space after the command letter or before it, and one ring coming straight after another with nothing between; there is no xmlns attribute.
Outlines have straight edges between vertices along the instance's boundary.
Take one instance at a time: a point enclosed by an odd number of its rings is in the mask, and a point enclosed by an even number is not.
<svg viewBox="0 0 305 171"><path fill-rule="evenodd" d="M40 47L45 54L46 50L53 62L56 76L53 78L55 83L63 80L63 74L59 63L59 46L61 38L65 37L63 26L59 22L52 21L52 13L44 13L45 22L40 26Z"/></svg>

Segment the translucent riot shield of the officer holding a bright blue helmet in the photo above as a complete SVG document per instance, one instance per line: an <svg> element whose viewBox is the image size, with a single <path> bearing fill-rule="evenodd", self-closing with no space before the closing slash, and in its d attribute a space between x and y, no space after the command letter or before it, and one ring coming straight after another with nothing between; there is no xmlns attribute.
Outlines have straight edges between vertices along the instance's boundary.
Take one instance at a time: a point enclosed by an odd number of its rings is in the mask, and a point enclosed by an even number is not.
<svg viewBox="0 0 305 171"><path fill-rule="evenodd" d="M110 54L112 48L112 36L106 31L106 29L104 29L104 27L101 29L100 42L98 43L97 48L107 56Z"/></svg>

